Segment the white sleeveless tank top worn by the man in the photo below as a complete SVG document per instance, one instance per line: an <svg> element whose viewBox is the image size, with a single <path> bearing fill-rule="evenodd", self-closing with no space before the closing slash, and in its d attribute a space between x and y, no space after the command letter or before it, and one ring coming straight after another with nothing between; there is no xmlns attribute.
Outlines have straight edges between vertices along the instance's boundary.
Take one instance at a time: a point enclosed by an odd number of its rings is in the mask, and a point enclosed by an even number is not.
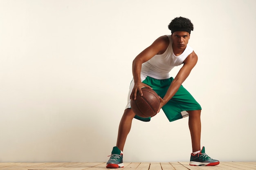
<svg viewBox="0 0 256 170"><path fill-rule="evenodd" d="M169 72L171 69L175 66L180 66L186 57L193 52L193 49L187 45L181 55L174 55L171 35L167 36L170 43L166 51L164 51L163 54L157 54L147 62L144 62L141 67L141 74L155 79L168 79L170 78Z"/></svg>

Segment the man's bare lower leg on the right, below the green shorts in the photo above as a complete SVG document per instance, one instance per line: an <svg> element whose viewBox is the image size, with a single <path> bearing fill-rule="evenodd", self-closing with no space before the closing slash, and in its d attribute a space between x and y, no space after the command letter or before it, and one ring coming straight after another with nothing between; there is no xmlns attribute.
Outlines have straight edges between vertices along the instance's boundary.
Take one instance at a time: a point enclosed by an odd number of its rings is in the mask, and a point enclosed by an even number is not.
<svg viewBox="0 0 256 170"><path fill-rule="evenodd" d="M189 113L189 130L191 134L192 150L196 152L201 150L201 110L187 111Z"/></svg>

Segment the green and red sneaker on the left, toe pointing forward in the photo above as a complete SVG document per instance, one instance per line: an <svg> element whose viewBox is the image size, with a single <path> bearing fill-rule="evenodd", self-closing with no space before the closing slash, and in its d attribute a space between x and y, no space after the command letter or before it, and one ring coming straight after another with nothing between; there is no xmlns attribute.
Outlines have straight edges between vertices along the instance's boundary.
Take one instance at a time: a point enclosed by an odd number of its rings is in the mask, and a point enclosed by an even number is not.
<svg viewBox="0 0 256 170"><path fill-rule="evenodd" d="M124 168L123 152L117 146L113 148L106 168Z"/></svg>

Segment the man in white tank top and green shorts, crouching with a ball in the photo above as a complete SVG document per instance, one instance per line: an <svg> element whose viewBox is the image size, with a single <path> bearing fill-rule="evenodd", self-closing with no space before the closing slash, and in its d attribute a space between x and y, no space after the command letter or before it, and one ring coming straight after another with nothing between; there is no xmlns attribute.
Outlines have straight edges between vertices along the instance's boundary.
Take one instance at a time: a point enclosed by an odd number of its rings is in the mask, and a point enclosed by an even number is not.
<svg viewBox="0 0 256 170"><path fill-rule="evenodd" d="M219 164L218 160L211 159L205 154L204 147L201 150L201 106L182 86L198 61L198 56L187 45L190 33L193 31L193 24L188 18L177 17L171 21L168 28L171 30L171 35L157 38L132 62L133 79L128 94L128 103L119 124L117 146L111 152L107 168L124 167L123 150L126 137L130 132L132 119L150 121L150 117L142 118L135 115L130 107L130 100L136 100L137 91L143 95L141 88L152 88L159 95L158 112L162 108L169 121L189 116L192 141L190 165L215 166ZM174 79L170 77L171 69L181 64L183 66L176 77Z"/></svg>

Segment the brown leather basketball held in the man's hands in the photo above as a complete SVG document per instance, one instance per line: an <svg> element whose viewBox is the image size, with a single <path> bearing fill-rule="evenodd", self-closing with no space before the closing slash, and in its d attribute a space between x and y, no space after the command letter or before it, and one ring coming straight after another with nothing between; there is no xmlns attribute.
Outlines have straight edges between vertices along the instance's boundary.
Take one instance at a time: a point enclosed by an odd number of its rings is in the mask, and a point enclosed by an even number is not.
<svg viewBox="0 0 256 170"><path fill-rule="evenodd" d="M137 91L136 100L131 100L132 111L139 117L152 117L159 109L159 96L150 88L141 88L141 91L143 96Z"/></svg>

